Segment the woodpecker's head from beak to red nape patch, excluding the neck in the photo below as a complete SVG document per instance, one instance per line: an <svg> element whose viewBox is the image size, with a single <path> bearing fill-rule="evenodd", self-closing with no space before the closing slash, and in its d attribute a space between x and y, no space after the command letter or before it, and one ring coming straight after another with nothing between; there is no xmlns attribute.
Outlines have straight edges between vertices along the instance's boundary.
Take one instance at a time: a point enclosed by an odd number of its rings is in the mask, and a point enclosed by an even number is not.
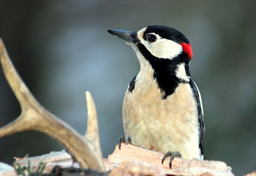
<svg viewBox="0 0 256 176"><path fill-rule="evenodd" d="M136 52L140 52L148 60L153 57L172 60L184 54L183 57L189 62L193 56L186 36L167 26L152 25L138 32L108 30L108 33L124 40L127 45L130 45Z"/></svg>

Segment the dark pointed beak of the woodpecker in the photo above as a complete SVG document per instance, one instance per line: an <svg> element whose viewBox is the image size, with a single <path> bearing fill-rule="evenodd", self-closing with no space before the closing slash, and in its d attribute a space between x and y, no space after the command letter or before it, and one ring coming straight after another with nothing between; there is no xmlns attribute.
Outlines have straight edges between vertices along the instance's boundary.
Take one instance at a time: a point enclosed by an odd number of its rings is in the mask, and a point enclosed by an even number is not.
<svg viewBox="0 0 256 176"><path fill-rule="evenodd" d="M112 36L119 38L125 42L135 42L137 38L137 32L130 32L130 31L120 31L120 30L107 30L109 34Z"/></svg>

